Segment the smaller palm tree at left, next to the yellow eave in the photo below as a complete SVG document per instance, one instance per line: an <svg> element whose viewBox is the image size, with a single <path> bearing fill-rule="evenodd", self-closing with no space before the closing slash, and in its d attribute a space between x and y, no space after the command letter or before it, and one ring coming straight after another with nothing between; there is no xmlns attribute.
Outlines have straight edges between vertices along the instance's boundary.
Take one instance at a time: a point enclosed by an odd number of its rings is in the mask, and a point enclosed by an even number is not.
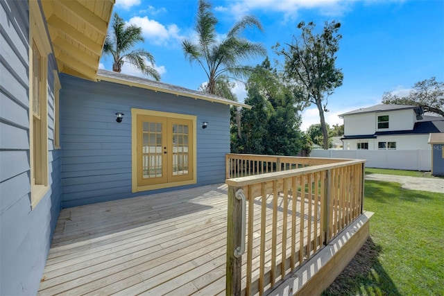
<svg viewBox="0 0 444 296"><path fill-rule="evenodd" d="M144 42L142 37L142 28L135 25L125 26L125 22L117 13L112 17L111 35L108 34L103 45L103 53L112 55L112 71L119 72L124 62L133 64L142 73L160 80L160 74L153 67L146 64L146 60L154 64L154 58L151 53L144 49L135 49L131 51L133 46L139 42ZM146 59L146 60L145 60Z"/></svg>

